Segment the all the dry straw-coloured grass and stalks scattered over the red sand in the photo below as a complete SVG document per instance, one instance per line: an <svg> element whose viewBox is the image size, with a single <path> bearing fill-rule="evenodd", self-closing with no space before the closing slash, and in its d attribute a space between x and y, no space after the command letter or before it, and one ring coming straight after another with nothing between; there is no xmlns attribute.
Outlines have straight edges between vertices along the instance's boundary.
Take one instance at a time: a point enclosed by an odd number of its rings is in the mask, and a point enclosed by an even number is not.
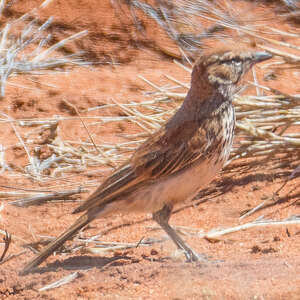
<svg viewBox="0 0 300 300"><path fill-rule="evenodd" d="M94 167L98 169L112 169L127 160L135 149L176 111L183 101L189 88L190 62L193 61L195 53L198 53L199 49L203 47L205 39L228 38L228 30L230 34L240 35L245 40L247 38L255 38L258 47L266 49L275 55L272 63L264 64L262 69L270 72L274 68L290 70L299 68L300 47L296 43L282 42L286 37L293 37L295 41L298 41L300 37L299 32L284 32L268 27L266 26L267 20L255 24L242 24L234 10L224 10L217 5L213 6L212 1L174 1L172 6L166 6L165 1L156 2L160 3L159 8L151 7L141 1L130 1L128 3L133 5L135 9L140 9L149 17L155 19L159 26L178 45L185 64L175 61L174 68L181 68L186 72L186 81L182 82L165 74L169 83L159 86L156 82L140 77L149 84L149 92L141 96L143 100L131 101L126 104L112 100L111 104L91 107L86 109L86 111L78 111L74 107L77 114L75 117L55 116L14 120L0 112L0 123L2 126L11 127L18 139L18 144L15 146L23 149L28 161L25 168L11 168L10 162L6 161L5 152L7 149L5 145L0 145L0 173L13 179L18 177L30 178L33 186L35 186L35 183L37 185L41 182L47 183L47 190L41 190L40 188L16 188L13 190L10 187L0 191L0 198L18 199L10 203L19 206L41 204L44 201L52 201L53 199L55 201L61 199L65 201L66 197L82 191L81 188L78 188L78 181L72 180L73 174L78 172L81 172L81 174L87 173ZM40 8L43 8L48 3L49 1L45 1ZM289 2L290 5L292 3ZM0 11L3 10L4 5L5 1L0 1ZM290 15L291 13L285 13L279 17L285 20L290 18ZM32 16L34 16L33 20ZM0 84L2 97L5 95L5 86L10 76L37 72L40 74L41 71L55 71L58 67L84 63L79 56L57 57L56 50L65 45L66 42L82 36L85 32L73 35L52 47L47 47L49 37L46 34L46 30L51 23L51 18L40 26L37 26L37 18L38 9L25 14L11 24L6 24L0 31ZM29 19L31 21L28 21ZM205 20L205 26L199 20ZM13 27L20 27L20 24L24 24L24 27L19 32L19 35L15 35ZM31 49L30 47L32 46L34 46L34 50L28 52L27 50ZM283 92L263 86L257 82L255 73L253 73L253 82L249 82L248 85L255 87L256 94L237 95L234 99L237 116L236 143L225 172L236 171L236 168L240 165L234 162L239 162L241 158L249 159L246 164L246 168L249 170L257 166L266 166L270 161L277 162L275 159L278 157L280 158L279 163L272 166L274 170L280 168L281 164L286 161L299 165L297 161L300 160L300 95L289 95L288 91ZM112 108L114 108L116 113L108 115L107 111L111 111ZM98 116L94 115L95 111L97 111ZM122 112L121 116L117 113L120 111ZM93 112L92 116L90 115L91 112ZM70 120L80 121L83 124L86 129L85 136L73 141L61 138L59 128L63 122ZM120 143L104 141L96 144L89 133L89 127L95 125L107 126L111 123L124 123L125 125L132 123L138 128L138 133L122 134L123 142ZM22 133L20 133L20 128ZM293 129L293 133L289 131L290 128ZM35 138L41 132L47 130L50 133L47 141L38 141ZM89 142L81 141L81 139L86 140L87 137ZM53 154L47 159L41 159L39 149L45 144L52 150ZM245 167L245 164L243 167ZM299 167L294 172L292 170L289 178L299 173ZM59 192L62 182L64 183L63 191ZM82 185L84 187L83 190L89 190L98 185L98 182L94 183L92 180L87 180ZM57 192L54 193L53 191ZM213 192L211 189L209 194ZM244 217L257 211L264 205L265 202L246 213ZM2 203L0 211L3 207ZM190 228L184 228L184 230L181 228L180 231L190 234L192 232L200 238L218 239L222 235L252 227L286 226L287 224L299 224L299 218L293 217L282 221L260 219L256 222L208 233L199 233ZM6 235L5 231L0 231L0 234ZM28 244L27 241L15 235L12 235L12 239ZM67 251L81 249L92 253L103 253L137 246L137 244L119 244L114 242L105 244L97 239L98 236L89 240L77 240L79 245L77 243L75 246L67 248ZM160 241L140 241L138 245L147 246L154 242ZM96 244L96 246L91 246L91 243ZM34 247L31 248L34 249ZM10 256L8 259L12 257L15 256ZM71 278L67 278L67 281L73 280L76 276L77 273L71 274ZM64 282L55 283L54 287L64 284ZM49 288L53 288L53 286L46 286L40 291Z"/></svg>

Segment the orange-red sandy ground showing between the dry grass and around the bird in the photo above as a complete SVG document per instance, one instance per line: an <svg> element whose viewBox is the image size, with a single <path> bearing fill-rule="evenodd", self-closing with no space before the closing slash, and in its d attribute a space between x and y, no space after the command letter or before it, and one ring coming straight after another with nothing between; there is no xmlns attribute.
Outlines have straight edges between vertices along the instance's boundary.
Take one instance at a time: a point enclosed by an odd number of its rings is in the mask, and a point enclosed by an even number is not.
<svg viewBox="0 0 300 300"><path fill-rule="evenodd" d="M8 16L19 16L41 2L19 1ZM176 47L151 22L145 22L149 35L144 38L137 36L134 27L129 22L124 23L125 19L119 20L108 0L53 2L43 11L42 17L55 17L51 31L57 40L83 29L89 30L86 38L65 51L84 49L89 60L119 64L100 64L92 69L79 68L69 75L39 77L37 83L31 83L32 89L8 86L5 98L0 101L0 111L13 118L70 116L72 112L62 105L63 99L76 104L78 109L110 103L110 98L123 102L137 99L142 91L149 89L137 78L138 74L160 83L166 82L163 74L188 80L186 73L161 51L163 48L176 53ZM270 6L265 8L266 11L271 9ZM292 25L278 25L278 28L280 26L286 29ZM151 30L153 27L155 30ZM289 74L286 80L286 74L278 73L278 79L267 84L287 93L300 93L297 73ZM263 80L262 75L258 74L259 80ZM30 83L28 77L18 77L14 82ZM76 140L79 136L86 136L80 122L64 122L60 130L64 139ZM96 142L100 143L103 137L115 141L114 133L121 129L110 126L100 130L94 126L92 130ZM100 132L105 134L97 135ZM3 125L0 128L0 143L5 147L16 143L11 127ZM7 161L16 165L26 165L26 159L18 149L7 153ZM206 195L204 200L209 201L198 205L195 200L194 205L182 206L183 209L172 216L171 223L203 231L238 225L241 212L272 195L295 166L271 171L266 171L270 169L266 166L252 173L233 173L223 181L220 175L215 181L221 187L217 196ZM99 171L97 176L89 179L100 183L104 175ZM74 178L78 180L78 186L87 179L82 174ZM265 218L278 220L299 214L299 182L299 179L290 181L280 192L280 204L258 212L246 221L262 214ZM0 184L47 188L24 176L9 176L9 172L1 175ZM61 189L61 183L57 184ZM78 203L17 208L7 204L6 199L2 202L0 229L26 242L38 240L39 235L56 236L77 217L70 213ZM125 225L119 226L122 224ZM150 216L118 215L94 221L84 235L100 234L103 241L137 243L141 238L164 235L161 230L154 230L154 225ZM223 236L218 241L186 235L184 238L195 250L218 260L212 264L185 263L183 257L175 256L174 245L165 241L105 256L79 252L51 256L41 266L40 272L20 277L18 272L33 256L27 250L0 265L0 299L300 299L299 233L297 226L264 226ZM22 244L22 241L13 239L8 255L23 251ZM0 253L1 249L0 245ZM80 276L71 283L49 291L38 291L75 271Z"/></svg>

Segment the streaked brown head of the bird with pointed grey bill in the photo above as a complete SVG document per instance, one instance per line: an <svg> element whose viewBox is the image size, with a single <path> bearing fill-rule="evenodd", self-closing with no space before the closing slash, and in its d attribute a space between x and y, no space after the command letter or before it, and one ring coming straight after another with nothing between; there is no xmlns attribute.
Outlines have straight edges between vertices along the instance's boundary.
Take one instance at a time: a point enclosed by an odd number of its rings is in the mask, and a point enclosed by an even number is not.
<svg viewBox="0 0 300 300"><path fill-rule="evenodd" d="M232 94L237 83L254 64L271 57L272 55L268 52L247 48L215 50L205 53L196 62L192 80L204 81L212 89Z"/></svg>

